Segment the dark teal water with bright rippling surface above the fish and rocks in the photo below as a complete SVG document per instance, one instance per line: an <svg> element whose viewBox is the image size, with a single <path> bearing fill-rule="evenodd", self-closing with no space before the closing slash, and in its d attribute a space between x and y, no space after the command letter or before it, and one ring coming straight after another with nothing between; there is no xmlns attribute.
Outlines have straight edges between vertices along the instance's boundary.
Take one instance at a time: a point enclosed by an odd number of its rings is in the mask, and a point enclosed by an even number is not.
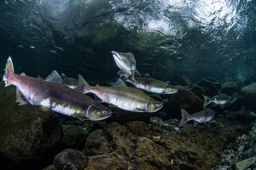
<svg viewBox="0 0 256 170"><path fill-rule="evenodd" d="M164 81L256 77L254 0L1 0L0 11L0 70L10 55L17 73L107 81L114 50Z"/></svg>

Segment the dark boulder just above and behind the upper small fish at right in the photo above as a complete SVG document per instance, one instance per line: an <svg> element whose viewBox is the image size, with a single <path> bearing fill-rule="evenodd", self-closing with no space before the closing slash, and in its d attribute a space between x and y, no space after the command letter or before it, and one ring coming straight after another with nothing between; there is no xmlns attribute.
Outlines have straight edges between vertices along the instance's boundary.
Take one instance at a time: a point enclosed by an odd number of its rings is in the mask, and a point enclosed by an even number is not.
<svg viewBox="0 0 256 170"><path fill-rule="evenodd" d="M205 77L204 79L201 79L197 83L197 85L199 85L201 87L204 86L209 89L210 96L208 96L208 97L217 95L219 89L221 88L221 83L212 77Z"/></svg>

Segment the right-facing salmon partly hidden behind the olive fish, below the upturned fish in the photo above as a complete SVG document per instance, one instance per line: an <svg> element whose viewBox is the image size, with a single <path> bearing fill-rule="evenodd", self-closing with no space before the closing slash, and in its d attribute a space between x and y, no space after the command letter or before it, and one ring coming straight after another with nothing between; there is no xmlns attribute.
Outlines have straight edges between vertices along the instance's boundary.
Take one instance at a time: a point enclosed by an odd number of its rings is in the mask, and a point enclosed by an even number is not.
<svg viewBox="0 0 256 170"><path fill-rule="evenodd" d="M178 91L177 88L174 88L166 82L151 78L149 74L145 74L144 77L134 77L134 79L136 82L134 82L131 77L128 77L126 82L130 82L136 88L152 93L172 94Z"/></svg>

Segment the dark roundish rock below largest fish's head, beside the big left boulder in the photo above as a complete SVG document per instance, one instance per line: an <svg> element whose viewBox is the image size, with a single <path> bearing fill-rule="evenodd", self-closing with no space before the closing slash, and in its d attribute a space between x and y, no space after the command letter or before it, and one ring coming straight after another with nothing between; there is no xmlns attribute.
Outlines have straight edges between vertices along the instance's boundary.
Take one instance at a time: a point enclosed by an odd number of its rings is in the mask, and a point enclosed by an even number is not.
<svg viewBox="0 0 256 170"><path fill-rule="evenodd" d="M84 138L81 128L74 125L62 125L62 127L63 138L61 143L67 148L76 148Z"/></svg>

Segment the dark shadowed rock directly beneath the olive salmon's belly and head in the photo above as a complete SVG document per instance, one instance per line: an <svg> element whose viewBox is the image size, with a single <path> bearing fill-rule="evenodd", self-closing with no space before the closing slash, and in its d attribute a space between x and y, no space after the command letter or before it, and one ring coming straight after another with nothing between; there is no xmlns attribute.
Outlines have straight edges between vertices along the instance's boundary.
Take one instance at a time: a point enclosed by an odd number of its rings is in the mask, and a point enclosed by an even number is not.
<svg viewBox="0 0 256 170"><path fill-rule="evenodd" d="M105 122L111 123L111 122L118 122L120 124L124 124L126 122L131 122L131 121L143 121L146 124L150 122L151 118L151 113L148 112L131 112L131 111L125 111L119 108L111 108L113 111L112 115L108 117L108 119L105 119ZM160 109L162 111L162 109Z"/></svg>

